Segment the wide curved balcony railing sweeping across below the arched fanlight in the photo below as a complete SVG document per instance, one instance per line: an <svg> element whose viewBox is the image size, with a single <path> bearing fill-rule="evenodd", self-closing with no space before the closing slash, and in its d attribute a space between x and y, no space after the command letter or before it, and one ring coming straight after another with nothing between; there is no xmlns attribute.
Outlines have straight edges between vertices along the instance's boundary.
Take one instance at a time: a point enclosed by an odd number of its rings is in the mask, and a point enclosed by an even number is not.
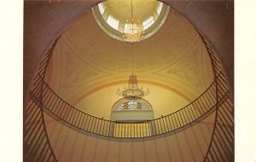
<svg viewBox="0 0 256 162"><path fill-rule="evenodd" d="M196 98L195 101L189 103L183 109L155 120L142 122L117 122L88 115L64 101L46 82L44 82L43 86L42 100L44 110L49 115L81 131L105 137L152 137L188 126L203 115L207 115L212 109L215 109L217 105L217 81L218 79L199 98ZM221 98L227 98L226 96L227 94L224 93ZM36 94L32 95L32 100L38 100Z"/></svg>

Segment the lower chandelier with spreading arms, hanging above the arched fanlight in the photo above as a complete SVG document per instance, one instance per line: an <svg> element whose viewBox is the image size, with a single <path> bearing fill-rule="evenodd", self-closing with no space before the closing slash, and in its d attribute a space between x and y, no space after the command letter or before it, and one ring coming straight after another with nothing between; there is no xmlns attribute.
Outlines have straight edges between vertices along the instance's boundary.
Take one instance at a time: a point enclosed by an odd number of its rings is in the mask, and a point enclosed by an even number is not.
<svg viewBox="0 0 256 162"><path fill-rule="evenodd" d="M133 43L131 43L132 54L131 54L131 75L129 76L128 87L124 87L122 90L120 88L117 90L119 96L125 98L143 98L149 93L148 88L138 87L137 75L133 74Z"/></svg>

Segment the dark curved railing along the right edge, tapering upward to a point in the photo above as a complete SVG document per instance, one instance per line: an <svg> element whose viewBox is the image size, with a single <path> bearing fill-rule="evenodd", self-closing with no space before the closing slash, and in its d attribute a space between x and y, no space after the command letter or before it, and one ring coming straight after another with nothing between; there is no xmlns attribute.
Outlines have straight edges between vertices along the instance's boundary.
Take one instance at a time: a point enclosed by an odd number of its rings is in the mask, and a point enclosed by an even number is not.
<svg viewBox="0 0 256 162"><path fill-rule="evenodd" d="M216 116L214 127L212 131L212 138L207 149L207 154L205 156L205 162L232 162L234 161L234 105L230 99L230 90L226 84L225 76L221 70L221 64L218 60L216 53L212 49L212 46L205 36L198 33L201 36L202 41L207 47L210 59L212 60L212 68L214 70L214 75L218 75L218 80L216 81ZM225 98L223 98L223 95Z"/></svg>

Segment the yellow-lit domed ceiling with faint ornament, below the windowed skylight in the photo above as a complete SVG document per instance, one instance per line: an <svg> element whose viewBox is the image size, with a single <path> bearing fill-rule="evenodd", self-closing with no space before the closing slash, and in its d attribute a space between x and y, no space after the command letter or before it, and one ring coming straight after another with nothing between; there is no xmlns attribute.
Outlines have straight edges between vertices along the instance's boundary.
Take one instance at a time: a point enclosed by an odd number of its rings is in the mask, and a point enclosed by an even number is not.
<svg viewBox="0 0 256 162"><path fill-rule="evenodd" d="M108 119L113 103L121 98L117 89L126 86L131 75L131 53L131 43L108 36L88 12L61 34L46 81L68 103ZM133 44L133 55L134 74L139 86L150 91L145 99L152 104L155 117L181 109L213 81L201 37L172 8L154 36Z"/></svg>

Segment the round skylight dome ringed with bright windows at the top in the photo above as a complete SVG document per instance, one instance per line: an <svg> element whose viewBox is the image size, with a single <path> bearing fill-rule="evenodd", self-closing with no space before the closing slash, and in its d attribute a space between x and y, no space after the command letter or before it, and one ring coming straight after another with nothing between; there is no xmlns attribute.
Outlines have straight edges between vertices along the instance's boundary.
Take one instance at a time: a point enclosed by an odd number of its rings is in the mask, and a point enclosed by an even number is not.
<svg viewBox="0 0 256 162"><path fill-rule="evenodd" d="M108 36L124 42L139 42L160 29L169 7L156 0L109 0L99 3L92 11Z"/></svg>

